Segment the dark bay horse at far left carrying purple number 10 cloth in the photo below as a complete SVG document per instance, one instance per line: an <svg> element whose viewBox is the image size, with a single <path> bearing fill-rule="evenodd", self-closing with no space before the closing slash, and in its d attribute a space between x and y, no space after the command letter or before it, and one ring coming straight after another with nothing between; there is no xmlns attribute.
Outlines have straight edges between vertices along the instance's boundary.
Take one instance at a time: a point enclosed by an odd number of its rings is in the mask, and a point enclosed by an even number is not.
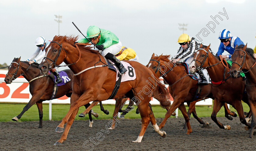
<svg viewBox="0 0 256 151"><path fill-rule="evenodd" d="M41 76L40 77L40 70L38 69L38 63L33 63L31 65L28 62L20 61L20 58L14 58L12 60L11 65L8 67L8 73L5 76L5 83L10 84L14 79L19 76L24 76L24 78L29 81L29 91L32 95L32 98L27 103L27 105L23 108L22 112L12 118L13 121L18 121L21 116L35 103L37 104L38 112L39 112L39 127L43 127L43 106L42 102L45 100L50 100L52 97L54 82L52 78L49 76ZM67 73L70 81L66 82L65 85L59 86L58 91L55 95L55 98L60 98L64 95L70 97L72 94L72 79L73 79L73 72L71 70L63 70ZM41 74L42 75L42 74ZM37 78L40 77L40 78ZM36 79L34 79L36 78ZM34 79L33 81L31 81ZM30 82L31 81L31 82ZM90 104L85 105L87 108ZM92 127L93 120L91 118L91 114L95 117L98 117L98 113L89 112L89 119L90 124L89 126Z"/></svg>

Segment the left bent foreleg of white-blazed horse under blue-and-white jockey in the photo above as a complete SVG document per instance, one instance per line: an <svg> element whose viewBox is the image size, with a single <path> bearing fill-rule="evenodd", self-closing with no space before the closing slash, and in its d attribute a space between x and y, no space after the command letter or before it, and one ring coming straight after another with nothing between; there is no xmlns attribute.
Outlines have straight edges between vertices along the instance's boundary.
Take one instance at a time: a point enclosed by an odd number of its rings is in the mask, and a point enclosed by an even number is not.
<svg viewBox="0 0 256 151"><path fill-rule="evenodd" d="M212 110L212 115L211 118L212 120L219 126L219 128L221 129L226 129L229 130L231 129L231 127L229 125L223 125L221 122L219 122L216 118L217 113L219 112L219 110L221 109L221 107L223 106L224 103L219 102L219 100L217 100L216 98L214 99L213 102L213 110Z"/></svg>

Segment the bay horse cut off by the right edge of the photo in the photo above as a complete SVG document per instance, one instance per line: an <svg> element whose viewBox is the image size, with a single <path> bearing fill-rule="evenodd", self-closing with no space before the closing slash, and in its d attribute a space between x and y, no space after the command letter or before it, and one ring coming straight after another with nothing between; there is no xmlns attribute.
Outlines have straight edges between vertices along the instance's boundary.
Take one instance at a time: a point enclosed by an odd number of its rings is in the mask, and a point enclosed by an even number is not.
<svg viewBox="0 0 256 151"><path fill-rule="evenodd" d="M246 92L249 98L249 106L252 114L251 130L249 137L253 137L253 131L256 126L256 66L255 58L253 56L253 49L247 48L247 44L235 47L232 57L232 67L230 68L230 75L237 78L240 72L244 72L246 76ZM247 116L248 117L248 116Z"/></svg>

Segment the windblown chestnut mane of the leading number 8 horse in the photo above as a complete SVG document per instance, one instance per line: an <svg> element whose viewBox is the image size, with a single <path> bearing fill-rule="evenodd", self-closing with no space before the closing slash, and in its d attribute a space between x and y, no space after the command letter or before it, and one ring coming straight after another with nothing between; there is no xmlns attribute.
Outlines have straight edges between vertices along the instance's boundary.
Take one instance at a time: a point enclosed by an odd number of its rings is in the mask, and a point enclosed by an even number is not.
<svg viewBox="0 0 256 151"><path fill-rule="evenodd" d="M68 36L60 36L60 35L58 35L58 36L55 36L52 41L55 41L55 42L59 41L59 43L64 41L64 42L67 42L70 45L74 46L73 44L77 40L78 40L78 36L71 35L71 36L68 37ZM89 43L89 42L87 42L87 43ZM87 51L87 52L92 52L92 53L99 53L97 50L91 49L91 45L77 45L77 46L82 51ZM74 47L76 47L76 46L74 46Z"/></svg>

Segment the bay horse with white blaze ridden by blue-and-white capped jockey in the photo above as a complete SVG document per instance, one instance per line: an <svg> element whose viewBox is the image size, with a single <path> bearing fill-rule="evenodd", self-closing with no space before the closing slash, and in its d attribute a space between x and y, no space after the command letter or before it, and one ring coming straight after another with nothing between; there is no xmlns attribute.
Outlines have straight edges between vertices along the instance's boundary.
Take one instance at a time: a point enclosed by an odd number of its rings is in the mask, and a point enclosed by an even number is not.
<svg viewBox="0 0 256 151"><path fill-rule="evenodd" d="M206 48L202 48L194 53L194 60L189 65L191 73L194 73L196 69L207 69L208 74L212 80L212 94L214 96L214 104L211 118L221 129L229 130L229 125L223 125L220 123L216 115L220 108L226 102L232 105L240 118L240 121L246 126L250 127L244 117L244 110L241 100L248 102L247 94L244 94L245 82L243 78L229 78L229 70L224 66L222 61L217 59L212 52L209 51L210 45Z"/></svg>

